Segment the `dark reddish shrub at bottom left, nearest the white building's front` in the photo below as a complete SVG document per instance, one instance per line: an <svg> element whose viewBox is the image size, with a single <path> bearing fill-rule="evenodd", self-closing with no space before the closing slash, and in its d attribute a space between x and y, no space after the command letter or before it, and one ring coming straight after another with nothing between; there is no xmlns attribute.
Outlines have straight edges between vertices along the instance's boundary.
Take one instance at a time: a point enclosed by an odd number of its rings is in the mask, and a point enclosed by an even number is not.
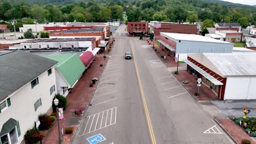
<svg viewBox="0 0 256 144"><path fill-rule="evenodd" d="M24 135L25 143L37 143L41 139L43 139L44 135L40 134L40 131L38 129L29 129L26 131L26 134Z"/></svg>

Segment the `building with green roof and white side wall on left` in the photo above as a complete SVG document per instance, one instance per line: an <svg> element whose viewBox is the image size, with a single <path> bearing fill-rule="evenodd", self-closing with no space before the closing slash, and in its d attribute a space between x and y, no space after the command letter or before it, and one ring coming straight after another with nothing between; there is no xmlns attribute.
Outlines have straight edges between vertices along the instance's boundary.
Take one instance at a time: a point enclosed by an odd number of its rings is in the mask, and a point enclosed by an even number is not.
<svg viewBox="0 0 256 144"><path fill-rule="evenodd" d="M65 97L73 89L86 69L76 53L44 56L59 62L55 67L57 93Z"/></svg>

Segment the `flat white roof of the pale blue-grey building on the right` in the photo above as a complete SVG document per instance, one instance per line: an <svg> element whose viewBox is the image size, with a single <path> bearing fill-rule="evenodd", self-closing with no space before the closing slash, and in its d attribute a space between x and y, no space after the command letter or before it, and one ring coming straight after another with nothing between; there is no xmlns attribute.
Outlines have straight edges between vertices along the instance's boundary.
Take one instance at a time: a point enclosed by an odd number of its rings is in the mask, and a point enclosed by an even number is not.
<svg viewBox="0 0 256 144"><path fill-rule="evenodd" d="M175 40L187 40L187 41L199 41L199 42L207 42L207 43L223 43L223 44L232 44L226 41L221 41L213 38L203 37L201 35L196 34L182 34L182 33L160 33L167 38L172 38Z"/></svg>

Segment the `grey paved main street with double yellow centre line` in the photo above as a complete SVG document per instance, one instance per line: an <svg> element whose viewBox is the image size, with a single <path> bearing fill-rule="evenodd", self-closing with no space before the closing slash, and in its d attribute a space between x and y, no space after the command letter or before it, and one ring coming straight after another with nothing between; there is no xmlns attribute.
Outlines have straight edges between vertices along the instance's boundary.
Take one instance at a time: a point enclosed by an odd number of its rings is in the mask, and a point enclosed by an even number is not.
<svg viewBox="0 0 256 144"><path fill-rule="evenodd" d="M147 43L127 37L124 28L114 35L112 56L72 143L89 143L96 134L107 144L232 143ZM126 51L132 60L124 59Z"/></svg>

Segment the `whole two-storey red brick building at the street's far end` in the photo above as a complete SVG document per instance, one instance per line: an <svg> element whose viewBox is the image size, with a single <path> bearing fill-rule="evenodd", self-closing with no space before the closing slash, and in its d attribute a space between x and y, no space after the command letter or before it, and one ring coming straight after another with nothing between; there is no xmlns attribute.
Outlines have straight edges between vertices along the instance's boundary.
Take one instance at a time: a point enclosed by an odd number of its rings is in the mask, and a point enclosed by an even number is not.
<svg viewBox="0 0 256 144"><path fill-rule="evenodd" d="M148 22L128 22L127 32L129 35L148 34Z"/></svg>

